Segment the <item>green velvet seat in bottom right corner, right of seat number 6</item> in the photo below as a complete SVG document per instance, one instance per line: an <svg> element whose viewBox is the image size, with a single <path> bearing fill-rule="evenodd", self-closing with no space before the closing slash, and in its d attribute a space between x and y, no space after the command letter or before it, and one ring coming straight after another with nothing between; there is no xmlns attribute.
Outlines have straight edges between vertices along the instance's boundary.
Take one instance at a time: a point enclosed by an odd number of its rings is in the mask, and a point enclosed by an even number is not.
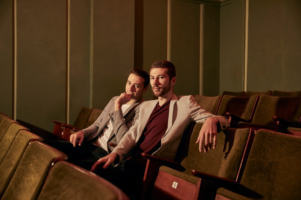
<svg viewBox="0 0 301 200"><path fill-rule="evenodd" d="M254 138L240 185L217 190L217 199L283 200L301 197L301 138L259 130Z"/></svg>

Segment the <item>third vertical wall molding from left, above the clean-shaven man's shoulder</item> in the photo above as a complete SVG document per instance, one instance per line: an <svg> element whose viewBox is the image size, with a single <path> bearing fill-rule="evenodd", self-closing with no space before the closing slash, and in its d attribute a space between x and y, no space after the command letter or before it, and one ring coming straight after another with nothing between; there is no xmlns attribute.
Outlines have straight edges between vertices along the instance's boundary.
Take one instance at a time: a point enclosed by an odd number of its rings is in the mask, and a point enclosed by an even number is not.
<svg viewBox="0 0 301 200"><path fill-rule="evenodd" d="M93 11L94 11L94 2L90 0L90 98L89 98L89 107L93 108Z"/></svg>

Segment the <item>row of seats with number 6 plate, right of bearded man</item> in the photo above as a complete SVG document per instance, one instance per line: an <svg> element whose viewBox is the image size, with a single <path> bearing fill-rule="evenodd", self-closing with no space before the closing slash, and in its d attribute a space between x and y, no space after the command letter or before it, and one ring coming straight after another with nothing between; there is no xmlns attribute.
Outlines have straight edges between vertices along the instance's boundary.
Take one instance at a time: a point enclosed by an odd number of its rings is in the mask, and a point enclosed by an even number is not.
<svg viewBox="0 0 301 200"><path fill-rule="evenodd" d="M199 152L195 124L181 162L151 155L142 199L300 199L301 137L260 129L228 128L217 146Z"/></svg>

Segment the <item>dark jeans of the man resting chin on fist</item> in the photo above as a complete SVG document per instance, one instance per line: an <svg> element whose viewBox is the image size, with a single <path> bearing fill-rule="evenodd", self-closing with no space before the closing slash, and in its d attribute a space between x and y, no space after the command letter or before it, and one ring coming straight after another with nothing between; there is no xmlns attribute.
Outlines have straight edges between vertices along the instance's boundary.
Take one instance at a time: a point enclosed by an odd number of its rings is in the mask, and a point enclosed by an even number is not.
<svg viewBox="0 0 301 200"><path fill-rule="evenodd" d="M73 147L73 144L69 141L45 140L43 142L65 153L68 156L68 162L87 170L91 170L92 165L98 159L108 155L103 148L91 143L83 142L81 146Z"/></svg>

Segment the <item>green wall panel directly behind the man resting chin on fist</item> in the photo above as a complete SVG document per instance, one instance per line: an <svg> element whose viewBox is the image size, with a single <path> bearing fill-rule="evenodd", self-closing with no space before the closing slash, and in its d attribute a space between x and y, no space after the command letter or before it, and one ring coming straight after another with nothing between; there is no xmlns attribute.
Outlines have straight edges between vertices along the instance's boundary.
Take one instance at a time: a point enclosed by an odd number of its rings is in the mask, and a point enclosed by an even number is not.
<svg viewBox="0 0 301 200"><path fill-rule="evenodd" d="M125 91L134 67L135 2L94 1L93 108Z"/></svg>

